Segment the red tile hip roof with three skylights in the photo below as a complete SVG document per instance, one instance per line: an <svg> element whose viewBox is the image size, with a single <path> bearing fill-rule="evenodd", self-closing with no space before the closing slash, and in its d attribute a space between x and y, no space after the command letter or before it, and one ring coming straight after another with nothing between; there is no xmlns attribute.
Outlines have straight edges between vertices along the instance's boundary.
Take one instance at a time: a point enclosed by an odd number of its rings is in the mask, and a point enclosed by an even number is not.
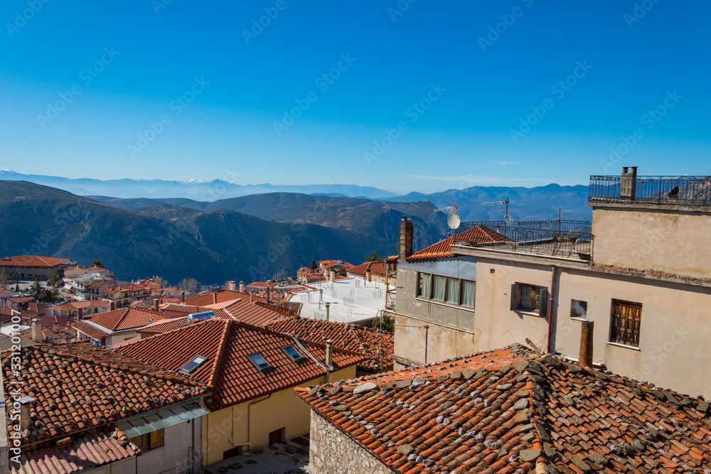
<svg viewBox="0 0 711 474"><path fill-rule="evenodd" d="M191 376L212 389L210 408L221 409L326 375L324 369L308 357L298 364L289 360L282 347L292 344L294 340L287 335L235 321L211 319L123 345L120 350L173 371L196 355L207 357ZM317 360L326 357L324 346L302 344ZM260 352L274 370L260 373L247 359L247 355L255 352ZM333 350L336 370L362 360L361 355Z"/></svg>

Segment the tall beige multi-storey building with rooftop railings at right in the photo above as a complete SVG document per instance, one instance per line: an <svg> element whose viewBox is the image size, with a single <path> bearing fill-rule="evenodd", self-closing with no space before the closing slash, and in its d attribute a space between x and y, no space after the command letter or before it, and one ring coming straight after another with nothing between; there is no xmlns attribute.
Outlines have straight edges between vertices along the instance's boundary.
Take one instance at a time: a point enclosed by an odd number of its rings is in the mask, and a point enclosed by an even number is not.
<svg viewBox="0 0 711 474"><path fill-rule="evenodd" d="M468 318L449 318L442 301L442 284L447 295L456 275L435 269L407 275L407 258L400 259L395 360L417 365L527 340L575 357L584 325L594 334L597 364L710 397L711 369L699 349L711 335L704 322L711 248L702 237L711 230L710 185L705 177L637 176L625 167L621 176L592 176L592 226L476 223L506 240L451 244L454 259L471 260L458 275L474 282ZM444 323L447 338L433 339L433 328Z"/></svg>

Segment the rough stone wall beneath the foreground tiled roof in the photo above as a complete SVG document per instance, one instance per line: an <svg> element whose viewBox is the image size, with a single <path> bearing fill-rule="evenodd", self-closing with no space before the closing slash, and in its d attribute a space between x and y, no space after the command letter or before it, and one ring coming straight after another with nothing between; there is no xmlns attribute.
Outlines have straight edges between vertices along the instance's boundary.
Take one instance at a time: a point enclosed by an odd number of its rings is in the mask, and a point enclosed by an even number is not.
<svg viewBox="0 0 711 474"><path fill-rule="evenodd" d="M370 451L353 441L330 421L311 411L309 473L386 474L395 473Z"/></svg>

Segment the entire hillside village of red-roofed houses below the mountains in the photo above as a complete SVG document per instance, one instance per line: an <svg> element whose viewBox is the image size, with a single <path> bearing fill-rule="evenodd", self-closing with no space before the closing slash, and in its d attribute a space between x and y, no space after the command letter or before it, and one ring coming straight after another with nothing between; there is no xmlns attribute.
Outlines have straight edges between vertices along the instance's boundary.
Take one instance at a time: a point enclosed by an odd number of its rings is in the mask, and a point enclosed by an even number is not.
<svg viewBox="0 0 711 474"><path fill-rule="evenodd" d="M589 180L268 281L1 258L0 473L711 473L711 179Z"/></svg>

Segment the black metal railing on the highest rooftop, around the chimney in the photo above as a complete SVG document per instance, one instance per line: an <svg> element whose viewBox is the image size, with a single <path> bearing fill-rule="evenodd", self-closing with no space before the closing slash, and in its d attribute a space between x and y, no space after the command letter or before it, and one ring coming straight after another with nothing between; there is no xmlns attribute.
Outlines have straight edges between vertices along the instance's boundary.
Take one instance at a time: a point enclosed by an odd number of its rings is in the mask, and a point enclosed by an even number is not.
<svg viewBox="0 0 711 474"><path fill-rule="evenodd" d="M590 176L590 201L711 205L711 176Z"/></svg>

